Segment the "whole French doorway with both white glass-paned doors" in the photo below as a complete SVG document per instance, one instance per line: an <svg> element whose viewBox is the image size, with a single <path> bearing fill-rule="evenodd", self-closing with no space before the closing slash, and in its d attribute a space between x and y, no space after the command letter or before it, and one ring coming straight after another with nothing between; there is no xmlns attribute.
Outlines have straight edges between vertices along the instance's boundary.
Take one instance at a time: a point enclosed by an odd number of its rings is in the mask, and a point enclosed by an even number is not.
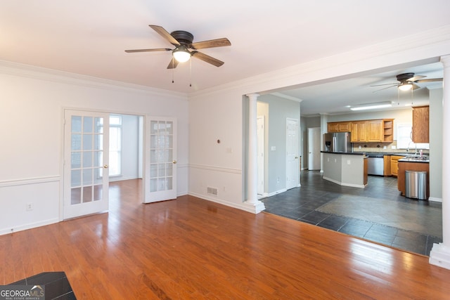
<svg viewBox="0 0 450 300"><path fill-rule="evenodd" d="M110 181L143 179L142 202L167 200L168 191L176 198L174 119L84 110L64 117L63 219L108 211Z"/></svg>

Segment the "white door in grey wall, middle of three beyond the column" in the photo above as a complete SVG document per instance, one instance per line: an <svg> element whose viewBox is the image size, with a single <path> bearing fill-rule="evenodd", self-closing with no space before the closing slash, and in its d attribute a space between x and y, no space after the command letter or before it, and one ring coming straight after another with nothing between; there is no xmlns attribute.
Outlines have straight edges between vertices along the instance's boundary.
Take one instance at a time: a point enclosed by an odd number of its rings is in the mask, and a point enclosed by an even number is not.
<svg viewBox="0 0 450 300"><path fill-rule="evenodd" d="M300 186L298 159L298 120L286 119L286 189Z"/></svg>

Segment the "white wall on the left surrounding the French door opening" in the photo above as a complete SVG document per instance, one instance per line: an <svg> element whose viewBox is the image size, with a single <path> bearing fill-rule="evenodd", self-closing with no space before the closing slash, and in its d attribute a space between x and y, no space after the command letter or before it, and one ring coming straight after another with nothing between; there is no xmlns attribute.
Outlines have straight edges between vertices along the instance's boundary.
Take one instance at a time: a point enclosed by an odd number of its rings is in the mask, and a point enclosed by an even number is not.
<svg viewBox="0 0 450 300"><path fill-rule="evenodd" d="M13 63L0 63L0 91L0 234L60 220L65 107L176 117L178 192L187 193L186 96Z"/></svg>

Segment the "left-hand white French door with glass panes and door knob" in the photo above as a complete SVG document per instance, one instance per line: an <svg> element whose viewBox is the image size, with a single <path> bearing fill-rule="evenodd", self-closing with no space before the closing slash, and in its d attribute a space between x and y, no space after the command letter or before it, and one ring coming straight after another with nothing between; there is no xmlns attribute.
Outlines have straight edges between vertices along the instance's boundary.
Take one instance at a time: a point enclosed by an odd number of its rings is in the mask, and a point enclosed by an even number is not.
<svg viewBox="0 0 450 300"><path fill-rule="evenodd" d="M65 110L64 219L108 211L109 115Z"/></svg>

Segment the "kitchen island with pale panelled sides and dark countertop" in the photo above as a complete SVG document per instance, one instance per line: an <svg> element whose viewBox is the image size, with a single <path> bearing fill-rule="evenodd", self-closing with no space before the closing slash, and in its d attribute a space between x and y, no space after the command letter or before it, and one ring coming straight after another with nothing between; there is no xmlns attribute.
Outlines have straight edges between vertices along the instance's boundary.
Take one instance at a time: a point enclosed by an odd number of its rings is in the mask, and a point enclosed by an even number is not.
<svg viewBox="0 0 450 300"><path fill-rule="evenodd" d="M323 155L323 179L355 188L364 188L367 185L365 153L321 152Z"/></svg>

